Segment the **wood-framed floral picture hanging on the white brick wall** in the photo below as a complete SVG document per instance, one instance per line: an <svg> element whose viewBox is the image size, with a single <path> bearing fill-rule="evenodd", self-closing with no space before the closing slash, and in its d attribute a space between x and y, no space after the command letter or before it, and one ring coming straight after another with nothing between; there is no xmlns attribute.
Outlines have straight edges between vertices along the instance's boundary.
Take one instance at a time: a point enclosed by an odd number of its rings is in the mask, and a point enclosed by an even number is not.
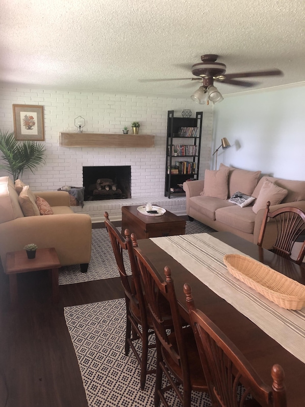
<svg viewBox="0 0 305 407"><path fill-rule="evenodd" d="M43 106L13 105L16 140L44 141Z"/></svg>

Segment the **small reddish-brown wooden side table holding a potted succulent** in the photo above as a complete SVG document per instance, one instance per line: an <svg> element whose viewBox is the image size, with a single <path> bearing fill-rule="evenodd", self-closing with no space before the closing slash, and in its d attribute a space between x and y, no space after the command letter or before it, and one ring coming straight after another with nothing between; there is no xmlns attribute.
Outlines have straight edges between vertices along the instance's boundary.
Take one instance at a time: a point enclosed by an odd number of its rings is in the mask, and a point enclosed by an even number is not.
<svg viewBox="0 0 305 407"><path fill-rule="evenodd" d="M17 274L30 271L49 270L52 278L53 300L59 297L58 269L61 267L54 247L49 249L37 249L36 257L28 259L26 250L10 252L6 255L6 274L10 278L11 304L18 304Z"/></svg>

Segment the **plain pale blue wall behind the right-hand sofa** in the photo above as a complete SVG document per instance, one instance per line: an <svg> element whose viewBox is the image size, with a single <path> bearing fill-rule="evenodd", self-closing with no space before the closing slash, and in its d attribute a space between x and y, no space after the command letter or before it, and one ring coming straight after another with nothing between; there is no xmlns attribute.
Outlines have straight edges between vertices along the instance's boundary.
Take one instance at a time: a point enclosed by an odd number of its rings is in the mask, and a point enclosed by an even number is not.
<svg viewBox="0 0 305 407"><path fill-rule="evenodd" d="M223 162L305 180L305 83L225 97L214 106L212 153L222 137L232 147L218 151L217 167Z"/></svg>

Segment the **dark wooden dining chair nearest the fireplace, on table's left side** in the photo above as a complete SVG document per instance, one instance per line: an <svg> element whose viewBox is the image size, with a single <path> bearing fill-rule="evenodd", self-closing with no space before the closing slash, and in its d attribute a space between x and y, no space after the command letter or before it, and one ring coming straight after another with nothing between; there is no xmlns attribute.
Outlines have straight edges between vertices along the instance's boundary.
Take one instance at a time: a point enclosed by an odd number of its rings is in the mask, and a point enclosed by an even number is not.
<svg viewBox="0 0 305 407"><path fill-rule="evenodd" d="M117 228L110 222L108 212L104 213L105 225L110 237L113 253L115 256L117 268L124 289L126 302L126 333L125 333L125 355L132 349L140 365L140 387L145 387L146 375L155 373L155 369L147 370L148 349L155 347L148 344L148 339L154 333L153 324L150 319L149 311L146 309L146 302L139 281L139 272L137 272L136 258L132 248L130 232L125 230L125 240ZM130 250L128 249L130 247ZM125 270L123 252L129 254L129 261L132 270L132 276L128 276ZM147 318L148 316L148 318ZM137 351L134 342L141 341L142 352Z"/></svg>

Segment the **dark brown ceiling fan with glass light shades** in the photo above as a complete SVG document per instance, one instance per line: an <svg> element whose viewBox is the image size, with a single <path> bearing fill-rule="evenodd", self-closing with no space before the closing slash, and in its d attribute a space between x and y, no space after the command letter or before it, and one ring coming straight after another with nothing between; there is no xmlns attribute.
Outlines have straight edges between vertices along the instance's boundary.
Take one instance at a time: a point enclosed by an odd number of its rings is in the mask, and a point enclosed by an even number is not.
<svg viewBox="0 0 305 407"><path fill-rule="evenodd" d="M208 100L213 103L218 103L223 100L219 90L214 86L214 81L226 83L228 85L251 87L255 83L247 81L239 81L236 78L251 78L260 76L276 76L283 75L279 69L261 70L241 72L236 74L225 74L226 65L221 62L216 62L218 55L206 54L201 55L201 61L192 66L192 74L197 78L173 78L173 79L155 79L148 81L178 81L191 80L201 82L200 87L192 94L191 99L194 102L204 104Z"/></svg>

